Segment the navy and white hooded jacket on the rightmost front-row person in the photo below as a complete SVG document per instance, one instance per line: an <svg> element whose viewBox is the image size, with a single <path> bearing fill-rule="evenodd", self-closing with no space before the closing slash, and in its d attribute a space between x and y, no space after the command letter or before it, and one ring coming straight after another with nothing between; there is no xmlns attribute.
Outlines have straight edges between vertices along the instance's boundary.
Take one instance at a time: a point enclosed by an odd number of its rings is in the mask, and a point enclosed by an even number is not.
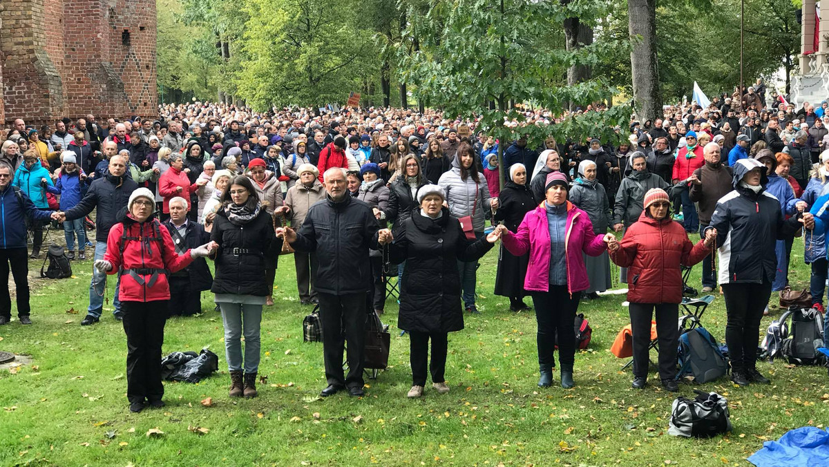
<svg viewBox="0 0 829 467"><path fill-rule="evenodd" d="M734 165L734 190L720 198L711 215L710 228L717 230L717 267L720 284L771 284L777 272L775 241L800 230L797 214L783 218L780 202L765 191L768 178L760 179L755 193L739 182L753 168L765 166L756 159L741 159Z"/></svg>

